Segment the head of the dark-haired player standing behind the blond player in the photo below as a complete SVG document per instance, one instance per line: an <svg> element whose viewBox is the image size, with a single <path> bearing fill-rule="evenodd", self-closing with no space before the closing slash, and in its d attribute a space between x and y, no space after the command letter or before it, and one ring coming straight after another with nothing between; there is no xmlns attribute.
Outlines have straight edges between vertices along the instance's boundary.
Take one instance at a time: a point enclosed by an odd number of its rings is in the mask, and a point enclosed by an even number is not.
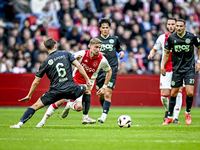
<svg viewBox="0 0 200 150"><path fill-rule="evenodd" d="M109 35L109 30L111 26L111 21L108 18L101 18L99 20L99 29L101 31L101 34L104 37L107 37Z"/></svg>

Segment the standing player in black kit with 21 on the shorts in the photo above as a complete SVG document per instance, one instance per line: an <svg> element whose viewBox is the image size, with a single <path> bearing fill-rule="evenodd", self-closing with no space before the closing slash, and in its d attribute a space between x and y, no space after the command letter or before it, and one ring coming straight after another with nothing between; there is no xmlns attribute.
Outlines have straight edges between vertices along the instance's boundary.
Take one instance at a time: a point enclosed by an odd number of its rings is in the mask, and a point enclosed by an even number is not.
<svg viewBox="0 0 200 150"><path fill-rule="evenodd" d="M169 52L172 50L172 64L173 64L173 75L171 82L171 97L169 101L169 113L168 118L162 125L168 125L173 122L173 110L176 103L176 96L178 90L183 83L185 82L185 89L187 93L186 97L186 124L191 124L191 115L190 110L193 103L193 94L194 94L194 84L195 84L195 69L200 71L200 40L199 38L185 31L186 25L185 20L179 19L176 22L176 33L169 36L165 44L165 54L161 66L161 73L165 76L165 64L169 57ZM195 67L194 60L194 45L198 48L198 61Z"/></svg>

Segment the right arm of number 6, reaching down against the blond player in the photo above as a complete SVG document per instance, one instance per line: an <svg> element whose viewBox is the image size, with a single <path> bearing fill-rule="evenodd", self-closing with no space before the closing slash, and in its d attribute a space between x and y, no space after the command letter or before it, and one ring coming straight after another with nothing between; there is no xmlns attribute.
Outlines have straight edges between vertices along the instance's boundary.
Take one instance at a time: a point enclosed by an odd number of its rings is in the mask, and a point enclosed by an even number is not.
<svg viewBox="0 0 200 150"><path fill-rule="evenodd" d="M88 86L88 89L89 89L89 90L92 90L92 89L91 89L91 85L92 85L92 84L91 84L90 79L89 79L89 77L87 76L85 70L83 69L83 67L80 65L80 63L79 63L77 60L74 60L74 61L73 61L73 64L74 64L75 67L78 68L78 71L79 71L79 72L81 73L81 75L85 78L86 84L87 84L87 86Z"/></svg>

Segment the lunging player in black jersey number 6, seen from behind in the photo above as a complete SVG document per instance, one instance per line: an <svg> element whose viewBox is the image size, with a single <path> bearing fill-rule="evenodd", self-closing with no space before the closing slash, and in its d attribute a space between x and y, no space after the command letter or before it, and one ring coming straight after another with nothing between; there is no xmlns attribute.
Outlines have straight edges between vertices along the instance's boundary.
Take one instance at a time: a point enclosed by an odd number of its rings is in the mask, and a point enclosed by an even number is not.
<svg viewBox="0 0 200 150"><path fill-rule="evenodd" d="M91 89L91 83L85 70L71 53L66 51L57 51L56 41L52 38L48 38L44 41L44 45L49 56L44 62L42 62L39 71L36 73L28 95L19 101L28 102L31 99L32 94L36 90L45 73L51 82L49 90L25 111L18 124L12 125L10 128L21 128L22 125L33 116L35 111L46 105L52 104L63 98L76 99L84 94L86 86L76 85L74 83L71 64L78 68L79 72L86 80L88 89Z"/></svg>

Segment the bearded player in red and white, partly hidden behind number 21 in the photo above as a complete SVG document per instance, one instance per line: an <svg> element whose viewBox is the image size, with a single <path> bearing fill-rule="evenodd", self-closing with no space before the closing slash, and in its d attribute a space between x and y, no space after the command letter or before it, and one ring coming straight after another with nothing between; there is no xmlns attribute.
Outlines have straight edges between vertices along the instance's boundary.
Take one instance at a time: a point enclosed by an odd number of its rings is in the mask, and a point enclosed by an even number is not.
<svg viewBox="0 0 200 150"><path fill-rule="evenodd" d="M165 54L165 43L169 37L169 35L175 33L175 24L176 19L175 18L168 18L167 19L167 29L169 33L162 34L158 37L153 49L150 51L150 54L148 55L148 59L152 60L153 56L157 52L157 50L162 50L162 54ZM162 55L163 59L163 55ZM161 64L162 65L162 64ZM168 96L170 94L171 90L171 79L172 79L172 53L170 52L169 59L165 65L166 70L166 76L160 75L160 93L161 93L161 102L165 108L165 118L167 118L168 115L168 107L169 107L169 99ZM177 99L176 99L176 106L174 107L174 123L178 122L178 116L181 111L181 105L182 105L182 90L183 87L180 88Z"/></svg>

